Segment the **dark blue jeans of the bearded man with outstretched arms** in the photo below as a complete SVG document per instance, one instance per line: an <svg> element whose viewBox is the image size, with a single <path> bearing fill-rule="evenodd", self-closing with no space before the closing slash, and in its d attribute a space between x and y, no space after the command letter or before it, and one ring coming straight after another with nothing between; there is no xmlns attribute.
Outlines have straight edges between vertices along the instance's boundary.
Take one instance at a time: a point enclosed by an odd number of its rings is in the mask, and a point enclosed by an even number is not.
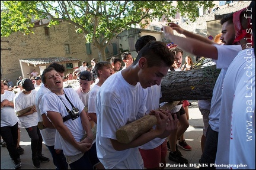
<svg viewBox="0 0 256 170"><path fill-rule="evenodd" d="M212 130L209 125L206 132L204 151L200 161L200 164L208 164L208 167L199 167L199 169L216 169L215 167L210 167L210 164L215 164L218 135L219 132Z"/></svg>

